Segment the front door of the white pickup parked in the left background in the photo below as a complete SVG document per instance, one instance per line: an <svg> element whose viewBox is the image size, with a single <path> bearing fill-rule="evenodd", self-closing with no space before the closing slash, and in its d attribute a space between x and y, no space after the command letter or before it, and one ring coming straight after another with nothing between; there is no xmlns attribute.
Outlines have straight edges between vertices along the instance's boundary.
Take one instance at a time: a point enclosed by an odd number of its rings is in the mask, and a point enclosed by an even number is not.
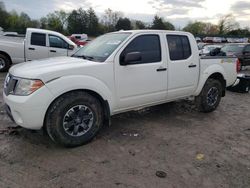
<svg viewBox="0 0 250 188"><path fill-rule="evenodd" d="M61 37L49 35L49 57L68 56L69 44Z"/></svg>

